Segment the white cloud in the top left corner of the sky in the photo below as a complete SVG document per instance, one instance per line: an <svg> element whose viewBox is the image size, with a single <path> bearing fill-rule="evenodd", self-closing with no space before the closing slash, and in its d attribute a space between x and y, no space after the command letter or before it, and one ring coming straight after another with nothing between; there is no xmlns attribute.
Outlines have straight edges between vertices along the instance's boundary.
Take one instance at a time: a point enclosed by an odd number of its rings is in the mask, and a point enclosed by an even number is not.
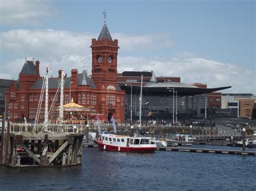
<svg viewBox="0 0 256 191"><path fill-rule="evenodd" d="M0 12L2 24L38 25L55 10L49 1L1 0Z"/></svg>

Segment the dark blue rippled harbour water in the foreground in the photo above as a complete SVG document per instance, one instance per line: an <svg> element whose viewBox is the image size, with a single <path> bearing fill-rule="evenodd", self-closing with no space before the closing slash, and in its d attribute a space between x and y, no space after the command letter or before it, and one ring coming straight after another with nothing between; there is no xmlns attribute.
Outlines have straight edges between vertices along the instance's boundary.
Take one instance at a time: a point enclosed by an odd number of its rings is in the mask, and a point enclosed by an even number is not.
<svg viewBox="0 0 256 191"><path fill-rule="evenodd" d="M209 145L194 146L209 147ZM224 147L218 148L224 149ZM38 168L0 166L0 190L255 190L256 188L255 156L171 151L136 154L98 151L98 148L83 149L82 166Z"/></svg>

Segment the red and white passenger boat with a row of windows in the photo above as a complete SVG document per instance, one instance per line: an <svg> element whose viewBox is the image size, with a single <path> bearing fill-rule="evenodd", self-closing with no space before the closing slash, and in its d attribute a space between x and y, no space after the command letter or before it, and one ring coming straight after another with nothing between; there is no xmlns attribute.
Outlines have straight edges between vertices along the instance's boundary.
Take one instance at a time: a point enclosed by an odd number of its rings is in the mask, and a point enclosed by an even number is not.
<svg viewBox="0 0 256 191"><path fill-rule="evenodd" d="M157 144L152 137L100 134L96 142L99 150L103 151L153 153L157 149Z"/></svg>

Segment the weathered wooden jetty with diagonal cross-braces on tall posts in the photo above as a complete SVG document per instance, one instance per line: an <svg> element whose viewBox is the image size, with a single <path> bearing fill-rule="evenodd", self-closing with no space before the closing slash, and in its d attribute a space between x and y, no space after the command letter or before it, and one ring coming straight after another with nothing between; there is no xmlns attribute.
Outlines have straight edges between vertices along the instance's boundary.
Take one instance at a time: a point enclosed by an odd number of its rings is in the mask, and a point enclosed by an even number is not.
<svg viewBox="0 0 256 191"><path fill-rule="evenodd" d="M0 165L73 166L82 164L83 133L11 132L2 128Z"/></svg>

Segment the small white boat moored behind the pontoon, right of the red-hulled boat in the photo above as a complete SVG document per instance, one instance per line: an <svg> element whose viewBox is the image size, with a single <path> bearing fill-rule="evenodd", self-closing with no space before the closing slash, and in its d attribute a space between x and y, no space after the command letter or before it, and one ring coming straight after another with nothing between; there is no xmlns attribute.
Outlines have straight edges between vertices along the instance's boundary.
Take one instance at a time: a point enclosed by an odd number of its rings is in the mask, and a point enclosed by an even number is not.
<svg viewBox="0 0 256 191"><path fill-rule="evenodd" d="M191 135L175 134L172 138L167 139L167 145L178 144L179 146L192 146L193 138Z"/></svg>

